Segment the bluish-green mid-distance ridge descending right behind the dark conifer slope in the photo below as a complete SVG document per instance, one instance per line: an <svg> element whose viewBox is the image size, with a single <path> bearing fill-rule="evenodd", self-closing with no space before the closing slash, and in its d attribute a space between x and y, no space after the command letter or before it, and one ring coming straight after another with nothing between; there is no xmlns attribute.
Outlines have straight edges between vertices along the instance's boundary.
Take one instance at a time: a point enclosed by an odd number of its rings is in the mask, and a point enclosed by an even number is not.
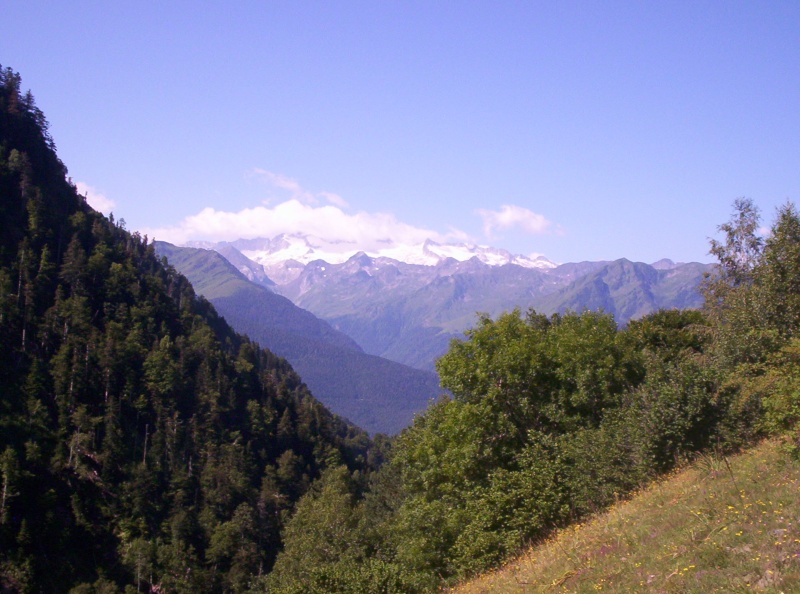
<svg viewBox="0 0 800 594"><path fill-rule="evenodd" d="M317 398L359 427L397 433L441 393L436 374L365 354L327 322L248 281L220 254L162 242L156 250L228 323L286 357Z"/></svg>

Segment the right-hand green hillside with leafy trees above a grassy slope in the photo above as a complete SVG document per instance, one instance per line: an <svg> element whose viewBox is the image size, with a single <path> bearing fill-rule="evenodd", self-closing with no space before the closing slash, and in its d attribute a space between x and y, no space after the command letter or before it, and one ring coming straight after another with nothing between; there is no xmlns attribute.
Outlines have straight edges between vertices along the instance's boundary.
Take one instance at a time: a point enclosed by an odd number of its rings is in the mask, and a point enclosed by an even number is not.
<svg viewBox="0 0 800 594"><path fill-rule="evenodd" d="M766 239L760 225L755 205L737 200L724 241L711 244L720 266L701 288L701 311L661 310L624 328L591 311L481 317L437 363L452 399L398 437L363 495L325 475L299 502L260 591L408 594L468 583L559 529L583 534L587 518L622 513L620 500L691 460L716 482L693 479L691 498L655 504L673 515L644 511L628 520L644 532L615 531L587 552L557 537L548 581L536 581L537 566L513 573L510 591L792 591L796 467L764 454L756 470L729 469L726 457L787 431L797 447L800 214L782 207ZM641 286L656 276L618 264L596 278L598 294L599 281L611 291L630 286L626 276ZM339 529L320 530L331 517Z"/></svg>

